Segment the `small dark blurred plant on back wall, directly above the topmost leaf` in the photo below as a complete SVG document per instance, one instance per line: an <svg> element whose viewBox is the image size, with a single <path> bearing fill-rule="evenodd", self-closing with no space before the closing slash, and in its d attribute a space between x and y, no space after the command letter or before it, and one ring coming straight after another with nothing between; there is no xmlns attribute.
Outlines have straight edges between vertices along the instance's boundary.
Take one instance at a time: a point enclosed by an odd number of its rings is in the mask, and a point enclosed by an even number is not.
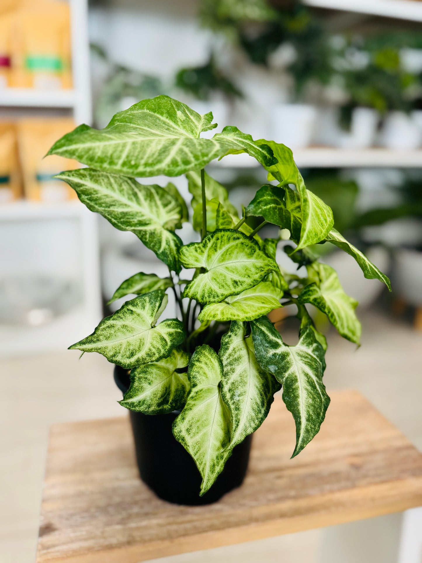
<svg viewBox="0 0 422 563"><path fill-rule="evenodd" d="M228 97L242 97L242 93L221 72L211 56L204 66L179 70L176 86L191 93L199 100L209 100L213 92L222 92Z"/></svg>

